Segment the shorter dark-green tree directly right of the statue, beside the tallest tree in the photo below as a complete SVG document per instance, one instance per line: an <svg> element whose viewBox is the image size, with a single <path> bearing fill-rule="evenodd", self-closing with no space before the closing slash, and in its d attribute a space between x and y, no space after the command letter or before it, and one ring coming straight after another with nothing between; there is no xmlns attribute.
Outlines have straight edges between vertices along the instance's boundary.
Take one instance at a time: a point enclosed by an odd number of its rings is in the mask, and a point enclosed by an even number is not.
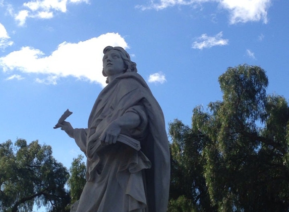
<svg viewBox="0 0 289 212"><path fill-rule="evenodd" d="M203 176L202 151L207 138L179 120L169 124L169 135L172 143L168 211L214 211Z"/></svg>

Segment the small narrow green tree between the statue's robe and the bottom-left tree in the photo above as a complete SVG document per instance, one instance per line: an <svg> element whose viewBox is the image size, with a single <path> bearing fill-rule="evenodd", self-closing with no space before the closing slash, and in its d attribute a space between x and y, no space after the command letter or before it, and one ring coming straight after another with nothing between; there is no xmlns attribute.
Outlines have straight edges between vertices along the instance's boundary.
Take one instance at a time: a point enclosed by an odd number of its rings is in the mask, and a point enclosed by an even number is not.
<svg viewBox="0 0 289 212"><path fill-rule="evenodd" d="M70 177L68 179L68 185L70 187L71 204L73 204L80 198L83 187L86 183L86 166L83 162L82 155L78 155L77 158L73 159L69 171Z"/></svg>

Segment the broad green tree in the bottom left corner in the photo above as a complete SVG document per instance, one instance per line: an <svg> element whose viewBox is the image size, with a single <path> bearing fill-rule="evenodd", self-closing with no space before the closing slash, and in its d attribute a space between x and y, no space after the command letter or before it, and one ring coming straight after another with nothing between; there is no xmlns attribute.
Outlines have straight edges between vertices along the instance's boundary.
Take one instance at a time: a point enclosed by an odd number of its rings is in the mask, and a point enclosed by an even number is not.
<svg viewBox="0 0 289 212"><path fill-rule="evenodd" d="M0 211L65 211L67 169L52 157L50 146L18 139L0 144Z"/></svg>

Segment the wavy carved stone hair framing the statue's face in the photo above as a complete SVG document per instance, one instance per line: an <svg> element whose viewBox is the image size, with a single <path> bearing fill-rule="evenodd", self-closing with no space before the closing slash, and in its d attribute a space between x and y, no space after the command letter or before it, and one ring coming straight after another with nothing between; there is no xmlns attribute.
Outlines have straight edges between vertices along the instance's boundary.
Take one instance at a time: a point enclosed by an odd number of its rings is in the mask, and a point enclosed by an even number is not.
<svg viewBox="0 0 289 212"><path fill-rule="evenodd" d="M109 52L110 50L117 50L120 52L120 55L125 63L126 66L126 71L125 72L137 72L137 64L133 61L131 61L131 57L130 55L126 52L126 50L124 50L122 47L116 46L116 47L112 47L112 46L106 46L103 49L103 54L105 55L107 52ZM107 76L104 73L104 70L102 69L102 74L103 76ZM107 80L106 80L107 81Z"/></svg>

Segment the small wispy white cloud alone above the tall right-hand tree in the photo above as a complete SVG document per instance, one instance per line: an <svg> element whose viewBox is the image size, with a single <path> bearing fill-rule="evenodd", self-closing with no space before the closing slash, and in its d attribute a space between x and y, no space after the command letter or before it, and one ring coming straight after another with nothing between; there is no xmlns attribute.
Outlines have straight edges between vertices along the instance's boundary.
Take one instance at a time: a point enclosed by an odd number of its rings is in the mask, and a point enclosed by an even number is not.
<svg viewBox="0 0 289 212"><path fill-rule="evenodd" d="M203 49L203 48L211 48L213 46L224 46L228 45L227 39L222 39L223 32L219 32L214 37L209 37L207 34L202 34L200 37L193 42L193 49Z"/></svg>

